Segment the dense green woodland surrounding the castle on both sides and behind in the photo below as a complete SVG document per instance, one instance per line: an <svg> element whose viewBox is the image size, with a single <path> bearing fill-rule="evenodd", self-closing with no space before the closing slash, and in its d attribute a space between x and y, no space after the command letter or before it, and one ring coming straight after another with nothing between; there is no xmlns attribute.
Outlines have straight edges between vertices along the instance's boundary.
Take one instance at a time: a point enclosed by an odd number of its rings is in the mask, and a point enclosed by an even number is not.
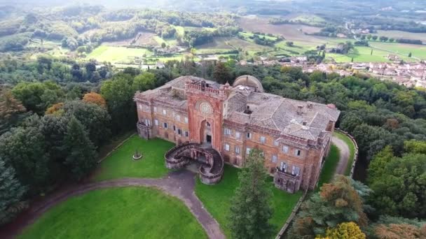
<svg viewBox="0 0 426 239"><path fill-rule="evenodd" d="M102 145L134 130L132 96L137 90L158 87L179 75L232 83L236 76L244 74L261 79L266 91L273 94L336 104L342 110L338 126L355 136L359 144L359 164L370 163L367 176L362 179L368 185L362 189L368 189L368 193L358 192L354 197L361 198L348 198L369 206L361 209L361 204L355 203L358 208L351 210L357 212L356 219L353 214L347 215L352 211L343 206L338 215L315 215L323 218L324 224L312 224L306 221L313 213L309 208L337 200L322 196L331 186L323 187L296 220L291 231L296 238L308 233L305 230L313 236L325 235L328 227L350 221L357 222L367 235L375 235L376 228L371 225L383 229L404 222L418 228L423 223L416 218L426 219L424 89L409 89L364 75L343 78L334 73L306 74L301 68L240 66L235 61L170 61L163 69L141 72L127 68L119 73L43 57L36 61L5 59L0 65L7 69L2 76L7 84L1 88L0 96L0 180L10 185L8 193L0 195L7 199L1 212L8 217L3 217L2 222L11 219L11 212L25 208L25 202L37 194L58 187L64 180L81 180L88 175L96 166L95 155ZM100 78L91 80L95 72ZM337 182L352 186L332 190L353 190L350 188L355 187L355 182L343 181ZM333 205L328 203L327 207ZM374 223L366 224L365 220Z"/></svg>

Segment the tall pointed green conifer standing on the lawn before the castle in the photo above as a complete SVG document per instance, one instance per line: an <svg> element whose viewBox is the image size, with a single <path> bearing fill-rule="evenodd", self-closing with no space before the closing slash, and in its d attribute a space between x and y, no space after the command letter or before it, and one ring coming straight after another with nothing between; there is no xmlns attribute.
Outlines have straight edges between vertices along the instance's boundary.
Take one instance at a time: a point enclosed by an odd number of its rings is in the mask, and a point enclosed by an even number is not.
<svg viewBox="0 0 426 239"><path fill-rule="evenodd" d="M250 152L239 173L240 185L232 198L230 228L234 238L268 238L273 230L271 191L261 151Z"/></svg>

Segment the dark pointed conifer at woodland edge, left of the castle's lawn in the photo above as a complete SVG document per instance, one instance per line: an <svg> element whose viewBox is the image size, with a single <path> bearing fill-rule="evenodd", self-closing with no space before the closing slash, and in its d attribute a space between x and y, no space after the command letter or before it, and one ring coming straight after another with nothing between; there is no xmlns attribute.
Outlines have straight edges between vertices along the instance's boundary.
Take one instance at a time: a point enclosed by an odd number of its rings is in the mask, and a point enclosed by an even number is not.
<svg viewBox="0 0 426 239"><path fill-rule="evenodd" d="M64 164L69 166L73 178L81 180L95 168L96 151L83 124L76 117L69 120L64 145L69 152Z"/></svg>

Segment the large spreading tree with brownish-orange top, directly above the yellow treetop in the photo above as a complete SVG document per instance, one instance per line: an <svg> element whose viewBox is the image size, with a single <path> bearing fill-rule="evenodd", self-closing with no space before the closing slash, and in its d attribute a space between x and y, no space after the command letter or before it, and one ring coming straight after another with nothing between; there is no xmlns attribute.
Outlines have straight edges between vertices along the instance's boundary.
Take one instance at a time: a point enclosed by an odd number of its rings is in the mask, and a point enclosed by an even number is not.
<svg viewBox="0 0 426 239"><path fill-rule="evenodd" d="M289 231L289 238L315 238L342 222L365 226L362 198L351 182L350 178L337 175L334 182L324 184L319 193L305 201Z"/></svg>

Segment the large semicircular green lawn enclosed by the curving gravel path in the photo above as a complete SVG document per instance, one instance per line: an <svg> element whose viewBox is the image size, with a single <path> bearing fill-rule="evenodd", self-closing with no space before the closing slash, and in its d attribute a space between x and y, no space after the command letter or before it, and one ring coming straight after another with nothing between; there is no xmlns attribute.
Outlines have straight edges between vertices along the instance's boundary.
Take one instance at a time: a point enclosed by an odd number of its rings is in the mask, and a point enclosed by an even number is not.
<svg viewBox="0 0 426 239"><path fill-rule="evenodd" d="M56 205L18 238L207 238L178 198L158 189L99 189Z"/></svg>

